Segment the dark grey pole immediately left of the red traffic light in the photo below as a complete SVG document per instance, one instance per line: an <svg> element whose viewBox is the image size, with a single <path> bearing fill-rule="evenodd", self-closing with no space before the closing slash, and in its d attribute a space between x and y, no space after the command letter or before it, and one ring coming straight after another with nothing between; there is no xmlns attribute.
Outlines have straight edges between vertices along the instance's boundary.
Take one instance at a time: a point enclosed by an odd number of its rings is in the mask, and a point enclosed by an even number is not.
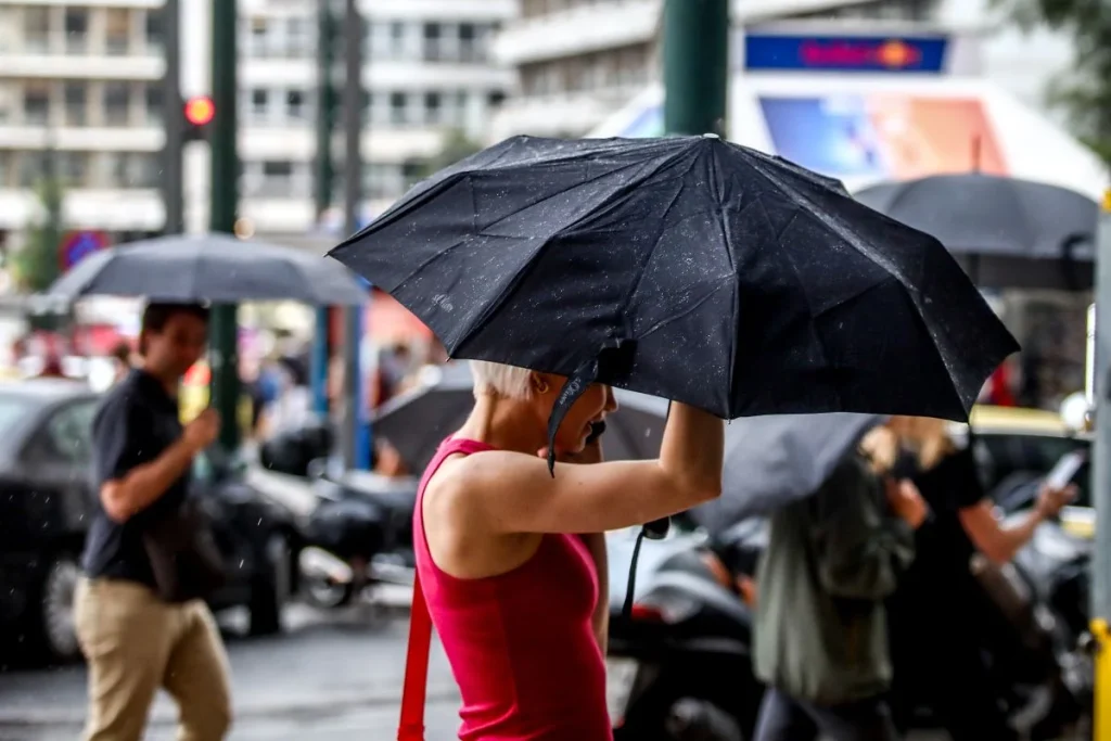
<svg viewBox="0 0 1111 741"><path fill-rule="evenodd" d="M186 119L181 97L181 7L180 0L166 0L161 10L166 26L166 74L162 78L162 201L166 207L167 234L186 229L184 138Z"/></svg>

